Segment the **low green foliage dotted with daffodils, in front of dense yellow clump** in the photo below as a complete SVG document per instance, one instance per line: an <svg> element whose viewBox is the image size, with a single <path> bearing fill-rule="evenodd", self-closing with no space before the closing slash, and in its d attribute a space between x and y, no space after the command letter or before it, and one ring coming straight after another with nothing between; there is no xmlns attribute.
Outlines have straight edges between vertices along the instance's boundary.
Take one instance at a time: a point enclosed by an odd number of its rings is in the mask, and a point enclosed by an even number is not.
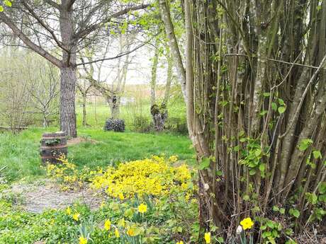
<svg viewBox="0 0 326 244"><path fill-rule="evenodd" d="M140 210L141 205L145 210ZM198 240L198 202L192 194L186 197L181 185L162 197L110 197L99 209L73 204L67 209L31 214L16 206L0 194L0 243L78 243L79 238L94 244Z"/></svg>

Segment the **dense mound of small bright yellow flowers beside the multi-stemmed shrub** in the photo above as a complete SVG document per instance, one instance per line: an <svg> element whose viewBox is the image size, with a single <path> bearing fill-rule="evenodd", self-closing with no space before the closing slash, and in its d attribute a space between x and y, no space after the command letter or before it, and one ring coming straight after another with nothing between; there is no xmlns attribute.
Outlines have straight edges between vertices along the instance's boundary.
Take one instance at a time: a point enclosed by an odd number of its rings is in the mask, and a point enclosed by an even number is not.
<svg viewBox="0 0 326 244"><path fill-rule="evenodd" d="M118 199L152 195L163 196L178 189L185 194L191 192L191 171L187 165L174 167L171 162L176 156L166 160L153 156L143 160L120 163L118 168L108 167L91 180L95 189L105 189L106 193Z"/></svg>

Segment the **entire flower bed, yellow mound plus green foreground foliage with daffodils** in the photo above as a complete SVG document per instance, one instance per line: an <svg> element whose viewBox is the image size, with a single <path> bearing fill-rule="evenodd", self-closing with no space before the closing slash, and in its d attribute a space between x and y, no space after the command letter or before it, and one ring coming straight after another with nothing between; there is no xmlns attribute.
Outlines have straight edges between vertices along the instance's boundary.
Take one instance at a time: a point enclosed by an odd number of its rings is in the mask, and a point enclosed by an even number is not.
<svg viewBox="0 0 326 244"><path fill-rule="evenodd" d="M47 175L57 180L62 190L91 187L94 198L105 195L99 209L79 203L30 214L15 207L13 198L3 193L0 243L175 243L196 239L194 171L184 163L173 165L176 156L153 156L96 170L78 170L67 158L61 160L60 165L47 165ZM6 186L1 193L4 190Z"/></svg>

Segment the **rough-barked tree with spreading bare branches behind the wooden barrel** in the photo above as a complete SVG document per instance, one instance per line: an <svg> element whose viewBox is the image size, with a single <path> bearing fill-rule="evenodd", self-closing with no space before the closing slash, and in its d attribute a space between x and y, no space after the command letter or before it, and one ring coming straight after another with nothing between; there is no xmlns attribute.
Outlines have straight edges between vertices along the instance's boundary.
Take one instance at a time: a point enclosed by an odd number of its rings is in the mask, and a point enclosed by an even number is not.
<svg viewBox="0 0 326 244"><path fill-rule="evenodd" d="M60 68L60 127L77 136L75 90L77 53L92 42L110 34L112 22L148 4L124 4L108 0L14 1L13 7L0 11L4 23L1 33L18 37L22 45L37 52ZM131 2L131 1L130 1Z"/></svg>

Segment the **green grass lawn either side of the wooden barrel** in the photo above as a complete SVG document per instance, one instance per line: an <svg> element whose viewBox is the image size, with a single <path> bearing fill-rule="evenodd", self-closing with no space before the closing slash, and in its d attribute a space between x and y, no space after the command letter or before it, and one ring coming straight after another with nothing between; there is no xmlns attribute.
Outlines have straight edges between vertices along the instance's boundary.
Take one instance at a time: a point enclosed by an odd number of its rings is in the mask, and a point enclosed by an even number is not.
<svg viewBox="0 0 326 244"><path fill-rule="evenodd" d="M0 134L0 169L8 180L33 180L44 172L40 168L40 139L44 132L57 129L28 129L20 134ZM140 134L135 132L103 132L101 129L79 129L79 136L89 141L69 146L69 158L79 166L91 168L160 155L176 155L193 161L193 149L187 136L173 134Z"/></svg>

